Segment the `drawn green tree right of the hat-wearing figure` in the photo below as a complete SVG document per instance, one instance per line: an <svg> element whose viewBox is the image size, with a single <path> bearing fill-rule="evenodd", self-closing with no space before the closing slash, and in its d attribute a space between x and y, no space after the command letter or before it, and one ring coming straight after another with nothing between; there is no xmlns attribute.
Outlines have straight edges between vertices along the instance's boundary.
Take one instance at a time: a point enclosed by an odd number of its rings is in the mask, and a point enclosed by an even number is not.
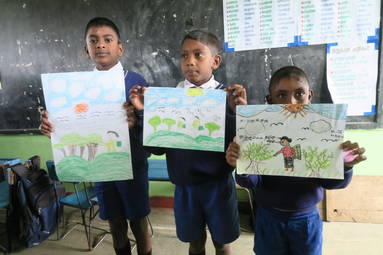
<svg viewBox="0 0 383 255"><path fill-rule="evenodd" d="M327 169L330 166L334 155L328 149L319 151L318 147L308 147L303 150L303 157L305 158L305 167L311 171L310 176L320 177L320 170Z"/></svg>

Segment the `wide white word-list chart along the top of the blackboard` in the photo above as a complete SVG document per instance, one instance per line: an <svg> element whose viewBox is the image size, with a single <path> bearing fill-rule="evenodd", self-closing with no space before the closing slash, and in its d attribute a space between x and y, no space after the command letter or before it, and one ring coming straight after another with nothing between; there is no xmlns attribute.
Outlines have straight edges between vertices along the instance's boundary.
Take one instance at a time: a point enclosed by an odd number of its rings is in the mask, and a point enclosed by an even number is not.
<svg viewBox="0 0 383 255"><path fill-rule="evenodd" d="M364 42L379 0L223 0L225 51Z"/></svg>

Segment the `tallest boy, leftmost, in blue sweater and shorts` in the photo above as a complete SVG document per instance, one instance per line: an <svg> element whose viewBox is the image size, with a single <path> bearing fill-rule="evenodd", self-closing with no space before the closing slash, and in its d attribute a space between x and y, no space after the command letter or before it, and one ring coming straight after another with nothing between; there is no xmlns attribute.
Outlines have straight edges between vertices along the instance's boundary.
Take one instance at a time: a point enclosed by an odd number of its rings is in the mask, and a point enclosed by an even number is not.
<svg viewBox="0 0 383 255"><path fill-rule="evenodd" d="M85 29L85 39L85 50L96 64L95 71L123 69L118 59L124 54L124 45L120 41L119 29L111 20L102 17L91 19ZM137 73L124 71L124 75L127 98L133 85L147 86L145 79ZM150 212L147 162L149 154L143 150L142 127L134 125L137 118L134 108L128 103L125 103L124 107L128 114L134 179L95 184L100 218L109 221L116 254L131 254L126 219L130 221L137 241L138 254L151 254L151 237L146 218ZM54 131L48 121L47 112L42 116L40 129L48 137Z"/></svg>

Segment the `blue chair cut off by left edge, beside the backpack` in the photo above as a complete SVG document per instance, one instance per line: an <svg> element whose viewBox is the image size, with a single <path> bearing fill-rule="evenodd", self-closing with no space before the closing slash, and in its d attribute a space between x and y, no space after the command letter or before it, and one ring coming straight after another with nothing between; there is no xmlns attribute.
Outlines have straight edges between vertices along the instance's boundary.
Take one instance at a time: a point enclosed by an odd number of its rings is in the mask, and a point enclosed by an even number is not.
<svg viewBox="0 0 383 255"><path fill-rule="evenodd" d="M4 179L0 180L0 209L5 210L5 235L7 237L7 247L0 244L0 249L4 252L10 252L12 250L12 241L9 236L9 212L10 212L10 194L9 194L9 167L21 163L20 159L13 158L0 158L0 173Z"/></svg>

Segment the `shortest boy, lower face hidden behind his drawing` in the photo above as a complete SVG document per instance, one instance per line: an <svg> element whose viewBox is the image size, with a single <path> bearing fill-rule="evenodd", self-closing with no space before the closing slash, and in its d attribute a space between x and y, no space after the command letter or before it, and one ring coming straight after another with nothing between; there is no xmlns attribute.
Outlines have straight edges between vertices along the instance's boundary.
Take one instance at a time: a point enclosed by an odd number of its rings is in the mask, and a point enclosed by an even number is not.
<svg viewBox="0 0 383 255"><path fill-rule="evenodd" d="M269 104L309 104L313 97L306 74L294 66L276 71L270 80ZM323 189L345 188L352 167L366 159L357 143L342 143L351 156L344 161L344 180L267 175L236 175L239 185L255 189L258 206L254 252L257 255L322 254L322 220L316 204ZM226 151L227 162L235 167L240 147L233 141Z"/></svg>

